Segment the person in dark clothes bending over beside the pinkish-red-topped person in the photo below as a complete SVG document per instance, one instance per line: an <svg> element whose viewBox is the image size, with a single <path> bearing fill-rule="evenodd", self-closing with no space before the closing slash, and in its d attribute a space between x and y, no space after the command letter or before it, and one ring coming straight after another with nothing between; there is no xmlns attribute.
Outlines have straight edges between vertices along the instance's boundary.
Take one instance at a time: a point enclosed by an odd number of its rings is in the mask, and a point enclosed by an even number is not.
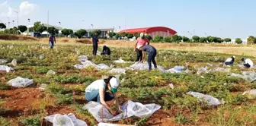
<svg viewBox="0 0 256 126"><path fill-rule="evenodd" d="M156 55L155 47L153 47L151 45L139 46L139 50L142 51L142 62L145 59L145 52L149 52L149 56L148 56L149 71L152 70L151 61L153 62L154 67L157 68L157 65L156 65L156 62L155 62L155 55Z"/></svg>

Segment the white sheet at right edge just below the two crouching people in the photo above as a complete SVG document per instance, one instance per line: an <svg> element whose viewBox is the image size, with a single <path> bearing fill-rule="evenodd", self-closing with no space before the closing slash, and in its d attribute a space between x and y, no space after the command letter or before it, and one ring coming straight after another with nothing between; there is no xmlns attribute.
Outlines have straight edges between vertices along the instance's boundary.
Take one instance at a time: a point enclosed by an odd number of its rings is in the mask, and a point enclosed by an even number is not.
<svg viewBox="0 0 256 126"><path fill-rule="evenodd" d="M239 77L248 81L256 80L256 72L254 71L242 71L242 74L231 74L231 77Z"/></svg>

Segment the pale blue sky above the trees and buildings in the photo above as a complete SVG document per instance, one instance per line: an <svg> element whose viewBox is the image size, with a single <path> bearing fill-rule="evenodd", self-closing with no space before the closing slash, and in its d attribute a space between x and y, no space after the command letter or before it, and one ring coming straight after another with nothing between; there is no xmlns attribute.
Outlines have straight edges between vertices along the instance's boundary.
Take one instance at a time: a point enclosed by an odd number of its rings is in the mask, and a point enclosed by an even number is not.
<svg viewBox="0 0 256 126"><path fill-rule="evenodd" d="M180 36L246 39L256 36L255 5L255 0L0 0L0 22L10 17L10 27L18 18L24 25L47 23L49 11L49 24L73 30L91 29L91 24L117 31L169 27Z"/></svg>

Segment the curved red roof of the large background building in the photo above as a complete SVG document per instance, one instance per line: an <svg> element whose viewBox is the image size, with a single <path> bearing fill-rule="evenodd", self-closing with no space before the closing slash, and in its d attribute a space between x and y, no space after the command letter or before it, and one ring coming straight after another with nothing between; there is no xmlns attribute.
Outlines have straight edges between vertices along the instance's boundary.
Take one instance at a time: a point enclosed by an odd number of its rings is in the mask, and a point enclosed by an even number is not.
<svg viewBox="0 0 256 126"><path fill-rule="evenodd" d="M128 29L128 30L121 30L119 33L152 33L155 31L162 31L162 32L169 32L172 35L176 34L175 30L172 30L168 27L144 27L144 28L135 28L135 29Z"/></svg>

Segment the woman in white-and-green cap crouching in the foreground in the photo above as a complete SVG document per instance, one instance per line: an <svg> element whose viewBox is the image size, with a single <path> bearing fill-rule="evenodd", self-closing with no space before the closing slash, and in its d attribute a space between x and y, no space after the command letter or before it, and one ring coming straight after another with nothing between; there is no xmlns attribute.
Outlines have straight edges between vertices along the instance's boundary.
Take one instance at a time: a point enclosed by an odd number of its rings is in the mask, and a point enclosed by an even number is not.
<svg viewBox="0 0 256 126"><path fill-rule="evenodd" d="M100 102L112 115L116 115L113 109L107 105L107 101L114 99L114 102L121 111L119 100L117 99L117 88L120 86L116 77L110 76L107 79L95 80L85 89L85 99L88 101ZM107 92L107 90L110 91Z"/></svg>

